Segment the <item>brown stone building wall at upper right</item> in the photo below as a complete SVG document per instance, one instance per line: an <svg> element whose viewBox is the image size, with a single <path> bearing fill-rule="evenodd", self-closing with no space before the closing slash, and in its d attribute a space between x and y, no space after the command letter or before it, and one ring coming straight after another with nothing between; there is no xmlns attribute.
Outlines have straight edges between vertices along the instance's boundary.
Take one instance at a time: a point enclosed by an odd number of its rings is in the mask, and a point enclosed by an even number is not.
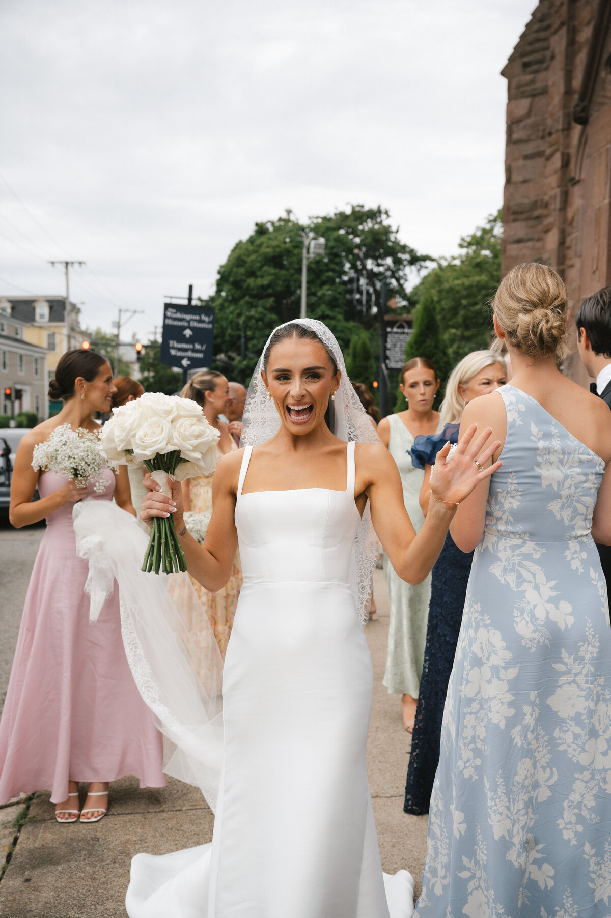
<svg viewBox="0 0 611 918"><path fill-rule="evenodd" d="M609 0L541 0L507 79L503 274L550 264L571 309L611 285ZM586 385L571 327L565 371Z"/></svg>

